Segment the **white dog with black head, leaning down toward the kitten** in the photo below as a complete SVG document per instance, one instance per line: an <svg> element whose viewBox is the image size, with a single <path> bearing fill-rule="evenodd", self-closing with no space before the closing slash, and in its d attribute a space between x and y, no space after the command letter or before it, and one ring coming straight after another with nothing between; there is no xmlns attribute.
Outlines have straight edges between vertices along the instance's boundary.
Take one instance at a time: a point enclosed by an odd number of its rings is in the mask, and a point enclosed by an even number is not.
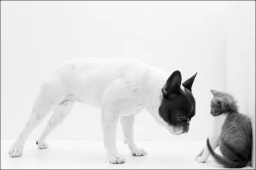
<svg viewBox="0 0 256 170"><path fill-rule="evenodd" d="M181 84L179 70L168 76L137 59L76 58L62 63L40 87L26 127L8 153L10 157L20 157L28 135L53 110L47 127L36 141L39 149L47 148L47 136L74 104L81 102L101 109L104 148L111 164L125 162L116 150L119 119L132 155L147 155L134 142L134 116L147 109L171 134L188 132L189 121L195 116L196 102L191 91L195 77L196 73Z"/></svg>

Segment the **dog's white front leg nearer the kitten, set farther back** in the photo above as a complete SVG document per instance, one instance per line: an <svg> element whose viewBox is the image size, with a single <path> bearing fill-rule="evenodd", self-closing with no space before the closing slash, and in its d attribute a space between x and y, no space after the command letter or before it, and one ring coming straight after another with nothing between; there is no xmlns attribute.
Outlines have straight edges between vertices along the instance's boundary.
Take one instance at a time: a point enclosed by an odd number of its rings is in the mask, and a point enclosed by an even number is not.
<svg viewBox="0 0 256 170"><path fill-rule="evenodd" d="M134 143L133 135L133 125L134 125L134 115L132 116L122 116L120 118L122 129L124 132L125 143L127 143L129 149L133 156L141 157L147 155L147 152L140 149Z"/></svg>

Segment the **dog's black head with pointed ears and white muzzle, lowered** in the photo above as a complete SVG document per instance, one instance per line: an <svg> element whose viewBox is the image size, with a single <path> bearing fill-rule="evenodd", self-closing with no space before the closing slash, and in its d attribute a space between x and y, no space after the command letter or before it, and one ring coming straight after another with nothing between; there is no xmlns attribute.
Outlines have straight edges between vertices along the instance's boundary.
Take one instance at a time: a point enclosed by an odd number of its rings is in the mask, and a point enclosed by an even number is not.
<svg viewBox="0 0 256 170"><path fill-rule="evenodd" d="M181 84L181 73L175 71L163 86L159 116L171 134L188 132L189 121L195 116L196 103L191 88L196 74Z"/></svg>

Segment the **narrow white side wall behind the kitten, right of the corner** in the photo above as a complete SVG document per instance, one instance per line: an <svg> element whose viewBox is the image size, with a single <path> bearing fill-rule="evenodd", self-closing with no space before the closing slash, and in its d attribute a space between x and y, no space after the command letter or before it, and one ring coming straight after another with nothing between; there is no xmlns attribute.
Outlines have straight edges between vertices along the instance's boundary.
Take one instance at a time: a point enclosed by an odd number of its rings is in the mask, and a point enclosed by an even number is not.
<svg viewBox="0 0 256 170"><path fill-rule="evenodd" d="M255 1L228 3L227 91L252 118L255 168Z"/></svg>

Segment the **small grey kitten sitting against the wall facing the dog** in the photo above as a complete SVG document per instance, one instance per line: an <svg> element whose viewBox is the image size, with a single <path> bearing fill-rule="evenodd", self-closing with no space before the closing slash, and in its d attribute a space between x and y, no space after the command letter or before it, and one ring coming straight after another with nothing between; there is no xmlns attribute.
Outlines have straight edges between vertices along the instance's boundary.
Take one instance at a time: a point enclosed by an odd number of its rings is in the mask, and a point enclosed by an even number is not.
<svg viewBox="0 0 256 170"><path fill-rule="evenodd" d="M226 114L218 141L220 156L212 150L209 139L207 148L216 162L228 168L245 167L252 157L252 123L245 114L237 111L236 100L228 94L211 90L212 116Z"/></svg>

